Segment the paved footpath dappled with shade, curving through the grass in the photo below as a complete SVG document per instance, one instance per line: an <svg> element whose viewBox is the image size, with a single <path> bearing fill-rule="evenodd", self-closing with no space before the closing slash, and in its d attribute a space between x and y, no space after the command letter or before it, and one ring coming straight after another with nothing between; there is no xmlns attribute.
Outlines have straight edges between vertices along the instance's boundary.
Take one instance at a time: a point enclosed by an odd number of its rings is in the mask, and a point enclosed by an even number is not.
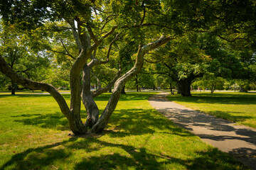
<svg viewBox="0 0 256 170"><path fill-rule="evenodd" d="M173 101L168 101L169 93L151 96L149 103L166 118L172 120L213 147L233 156L256 170L256 130L244 125L235 125L228 120L215 118ZM248 106L250 107L250 106Z"/></svg>

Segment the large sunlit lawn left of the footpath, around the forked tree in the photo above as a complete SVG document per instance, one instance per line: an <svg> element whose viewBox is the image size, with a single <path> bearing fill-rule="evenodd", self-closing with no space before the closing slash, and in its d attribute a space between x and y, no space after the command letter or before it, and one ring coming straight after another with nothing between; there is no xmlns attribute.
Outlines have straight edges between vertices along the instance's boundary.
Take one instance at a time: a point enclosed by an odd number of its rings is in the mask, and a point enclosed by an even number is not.
<svg viewBox="0 0 256 170"><path fill-rule="evenodd" d="M0 95L0 169L246 169L154 111L152 94L122 95L106 130L90 137L69 135L47 94ZM96 98L101 111L109 96Z"/></svg>

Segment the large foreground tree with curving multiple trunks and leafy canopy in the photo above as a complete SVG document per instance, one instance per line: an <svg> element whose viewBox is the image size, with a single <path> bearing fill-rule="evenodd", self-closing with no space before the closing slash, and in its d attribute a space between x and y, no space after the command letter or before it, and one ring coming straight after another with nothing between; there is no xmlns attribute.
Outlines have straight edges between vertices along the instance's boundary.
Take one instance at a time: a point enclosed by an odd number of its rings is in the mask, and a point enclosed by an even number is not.
<svg viewBox="0 0 256 170"><path fill-rule="evenodd" d="M16 23L19 29L30 32L31 40L40 39L32 46L38 45L41 50L69 57L70 107L54 86L22 77L9 67L3 55L0 56L0 71L17 84L48 91L57 101L75 135L88 131L102 132L117 106L124 84L142 69L144 56L190 31L218 33L221 27L210 29L211 23L221 21L222 16L216 18L212 15L218 15L214 13L215 6L219 8L218 4L218 1L211 3L203 0L6 0L0 4L1 19L5 24ZM65 24L60 26L60 22ZM53 49L53 33L62 33L58 48L62 50ZM118 72L109 85L92 93L92 68L109 62L112 49L125 47L125 43L133 43L137 47L134 50L137 52L131 57L135 60L133 67L122 74ZM72 47L70 44L73 44ZM108 91L113 84L110 100L100 115L93 97ZM81 101L87 111L85 123L80 118Z"/></svg>

